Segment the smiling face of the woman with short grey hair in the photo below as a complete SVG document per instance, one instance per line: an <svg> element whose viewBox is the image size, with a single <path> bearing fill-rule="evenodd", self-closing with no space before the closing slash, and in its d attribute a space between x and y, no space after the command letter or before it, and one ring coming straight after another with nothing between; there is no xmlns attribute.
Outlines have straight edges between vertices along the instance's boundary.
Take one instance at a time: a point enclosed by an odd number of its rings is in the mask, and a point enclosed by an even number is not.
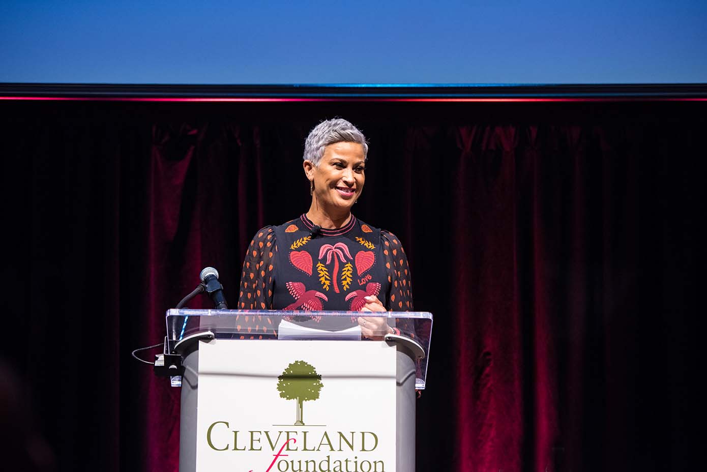
<svg viewBox="0 0 707 472"><path fill-rule="evenodd" d="M329 144L318 167L309 160L304 167L307 178L314 182L312 198L330 210L350 211L366 182L366 158L358 143Z"/></svg>

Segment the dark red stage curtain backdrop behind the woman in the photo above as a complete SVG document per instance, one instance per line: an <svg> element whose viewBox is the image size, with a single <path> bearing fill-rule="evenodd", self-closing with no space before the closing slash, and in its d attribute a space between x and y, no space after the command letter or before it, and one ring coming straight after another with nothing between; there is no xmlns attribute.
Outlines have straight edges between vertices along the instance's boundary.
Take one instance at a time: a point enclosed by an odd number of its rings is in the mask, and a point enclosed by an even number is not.
<svg viewBox="0 0 707 472"><path fill-rule="evenodd" d="M435 315L419 471L696 461L704 102L0 110L1 344L31 412L4 434L39 432L57 470L177 470L180 390L130 351L203 266L236 300L252 235L308 208L303 141L337 115L370 138L355 214L402 240Z"/></svg>

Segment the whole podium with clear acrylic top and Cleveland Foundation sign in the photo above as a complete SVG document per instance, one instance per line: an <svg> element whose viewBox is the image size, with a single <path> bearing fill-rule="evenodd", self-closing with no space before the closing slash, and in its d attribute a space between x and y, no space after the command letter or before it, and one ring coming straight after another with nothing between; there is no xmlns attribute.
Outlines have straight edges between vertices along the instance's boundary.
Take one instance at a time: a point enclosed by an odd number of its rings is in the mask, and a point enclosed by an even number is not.
<svg viewBox="0 0 707 472"><path fill-rule="evenodd" d="M362 315L380 329L362 336ZM431 313L170 309L166 322L156 371L182 389L180 472L415 470Z"/></svg>

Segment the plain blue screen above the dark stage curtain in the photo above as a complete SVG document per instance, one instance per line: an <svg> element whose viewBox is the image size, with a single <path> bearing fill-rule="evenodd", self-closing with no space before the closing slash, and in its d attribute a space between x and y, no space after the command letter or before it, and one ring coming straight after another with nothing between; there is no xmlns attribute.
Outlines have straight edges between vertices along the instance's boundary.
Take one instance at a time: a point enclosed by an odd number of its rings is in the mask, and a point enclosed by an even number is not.
<svg viewBox="0 0 707 472"><path fill-rule="evenodd" d="M0 82L707 83L707 1L0 2Z"/></svg>

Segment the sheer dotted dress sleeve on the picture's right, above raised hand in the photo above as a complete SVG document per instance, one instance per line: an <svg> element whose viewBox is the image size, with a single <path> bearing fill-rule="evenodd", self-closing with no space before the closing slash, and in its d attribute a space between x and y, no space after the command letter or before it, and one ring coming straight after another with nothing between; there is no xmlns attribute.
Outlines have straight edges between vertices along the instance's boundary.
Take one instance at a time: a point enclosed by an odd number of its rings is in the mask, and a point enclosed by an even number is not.
<svg viewBox="0 0 707 472"><path fill-rule="evenodd" d="M392 232L382 230L380 242L385 256L385 270L390 282L390 293L385 300L385 308L393 312L410 312L412 306L412 287L410 267L400 240Z"/></svg>

